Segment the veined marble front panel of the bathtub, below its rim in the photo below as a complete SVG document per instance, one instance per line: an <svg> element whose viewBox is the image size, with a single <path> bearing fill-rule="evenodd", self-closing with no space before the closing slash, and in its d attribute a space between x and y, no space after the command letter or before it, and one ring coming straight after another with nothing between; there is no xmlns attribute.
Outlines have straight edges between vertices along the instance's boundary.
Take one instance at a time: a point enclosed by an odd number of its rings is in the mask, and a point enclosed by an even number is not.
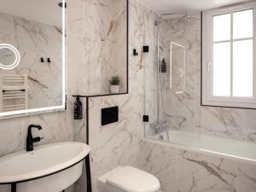
<svg viewBox="0 0 256 192"><path fill-rule="evenodd" d="M144 141L143 169L164 192L254 192L256 166Z"/></svg>

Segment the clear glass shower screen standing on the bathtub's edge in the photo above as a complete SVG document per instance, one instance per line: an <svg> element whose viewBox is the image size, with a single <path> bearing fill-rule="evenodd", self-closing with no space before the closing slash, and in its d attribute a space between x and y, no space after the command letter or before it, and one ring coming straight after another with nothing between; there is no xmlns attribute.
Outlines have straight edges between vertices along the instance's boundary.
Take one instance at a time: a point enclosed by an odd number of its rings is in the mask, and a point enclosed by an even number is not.
<svg viewBox="0 0 256 192"><path fill-rule="evenodd" d="M154 61L144 69L147 138L200 148L200 26L187 16L158 20Z"/></svg>

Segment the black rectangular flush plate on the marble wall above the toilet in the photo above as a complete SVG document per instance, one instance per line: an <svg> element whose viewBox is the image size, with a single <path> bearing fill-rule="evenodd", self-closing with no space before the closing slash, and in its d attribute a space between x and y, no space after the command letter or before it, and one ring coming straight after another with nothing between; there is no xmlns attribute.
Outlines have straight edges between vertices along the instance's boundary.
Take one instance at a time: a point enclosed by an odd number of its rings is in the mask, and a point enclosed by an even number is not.
<svg viewBox="0 0 256 192"><path fill-rule="evenodd" d="M119 107L102 108L102 125L113 124L119 121Z"/></svg>

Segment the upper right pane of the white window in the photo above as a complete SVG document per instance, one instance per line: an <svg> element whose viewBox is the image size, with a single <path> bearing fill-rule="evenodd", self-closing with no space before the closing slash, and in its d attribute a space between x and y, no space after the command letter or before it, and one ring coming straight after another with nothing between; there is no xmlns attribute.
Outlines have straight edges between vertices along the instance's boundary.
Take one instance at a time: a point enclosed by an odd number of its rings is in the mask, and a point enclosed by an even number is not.
<svg viewBox="0 0 256 192"><path fill-rule="evenodd" d="M253 9L236 12L233 15L234 38L253 38Z"/></svg>

